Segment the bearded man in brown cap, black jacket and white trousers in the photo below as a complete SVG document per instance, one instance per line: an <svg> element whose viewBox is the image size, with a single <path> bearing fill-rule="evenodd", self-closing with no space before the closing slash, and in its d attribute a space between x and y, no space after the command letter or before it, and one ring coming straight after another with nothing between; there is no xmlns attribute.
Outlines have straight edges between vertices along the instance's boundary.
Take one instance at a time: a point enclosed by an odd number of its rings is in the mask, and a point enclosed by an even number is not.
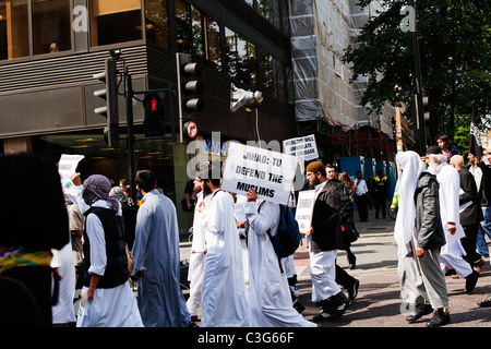
<svg viewBox="0 0 491 349"><path fill-rule="evenodd" d="M313 322L337 320L345 313L350 300L336 282L337 250L343 248L340 227L340 197L327 181L325 167L313 161L307 167L309 188L315 190L312 227L308 232L312 301L322 306Z"/></svg>

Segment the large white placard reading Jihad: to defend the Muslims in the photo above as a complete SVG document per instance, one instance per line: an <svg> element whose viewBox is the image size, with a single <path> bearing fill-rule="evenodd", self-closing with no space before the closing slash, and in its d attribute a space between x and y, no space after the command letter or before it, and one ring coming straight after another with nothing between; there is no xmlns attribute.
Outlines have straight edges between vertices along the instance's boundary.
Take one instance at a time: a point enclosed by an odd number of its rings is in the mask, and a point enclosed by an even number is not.
<svg viewBox="0 0 491 349"><path fill-rule="evenodd" d="M296 168L295 156L230 143L221 189L246 195L253 188L259 198L287 205Z"/></svg>

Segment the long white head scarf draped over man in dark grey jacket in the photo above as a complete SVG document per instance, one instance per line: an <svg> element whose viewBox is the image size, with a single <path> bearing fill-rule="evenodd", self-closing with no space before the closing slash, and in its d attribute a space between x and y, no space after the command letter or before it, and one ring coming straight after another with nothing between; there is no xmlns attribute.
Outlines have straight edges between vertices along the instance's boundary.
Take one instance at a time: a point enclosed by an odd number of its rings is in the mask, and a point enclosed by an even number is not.
<svg viewBox="0 0 491 349"><path fill-rule="evenodd" d="M426 171L426 167L420 156L411 151L398 153L396 164L400 198L394 238L398 245L398 255L403 256L406 253L406 244L412 239L416 218L415 192L419 177ZM399 164L403 171L399 169Z"/></svg>

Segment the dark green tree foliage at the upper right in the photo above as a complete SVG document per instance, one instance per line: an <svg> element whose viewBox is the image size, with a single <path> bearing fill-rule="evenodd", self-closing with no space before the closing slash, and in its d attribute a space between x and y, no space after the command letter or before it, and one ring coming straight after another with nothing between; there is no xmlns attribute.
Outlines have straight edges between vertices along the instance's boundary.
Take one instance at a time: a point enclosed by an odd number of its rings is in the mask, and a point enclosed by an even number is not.
<svg viewBox="0 0 491 349"><path fill-rule="evenodd" d="M400 9L408 2L379 2L384 11L369 20L344 56L345 63L352 65L354 80L368 76L362 105L378 113L385 101L409 104L416 92L411 33L399 26L406 15ZM358 4L366 8L370 3L360 0ZM480 128L489 127L491 0L418 0L416 20L422 88L430 100L431 139L441 133L453 137L456 122L470 119L472 105ZM396 85L400 88L397 97Z"/></svg>

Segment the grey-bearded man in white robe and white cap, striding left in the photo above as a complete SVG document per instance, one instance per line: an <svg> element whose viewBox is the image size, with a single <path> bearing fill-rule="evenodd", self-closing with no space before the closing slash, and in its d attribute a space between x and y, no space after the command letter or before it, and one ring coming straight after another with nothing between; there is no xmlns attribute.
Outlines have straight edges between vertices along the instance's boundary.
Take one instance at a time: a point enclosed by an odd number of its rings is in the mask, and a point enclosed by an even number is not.
<svg viewBox="0 0 491 349"><path fill-rule="evenodd" d="M466 252L460 243L460 239L465 238L458 204L460 177L446 160L446 155L440 154L435 147L429 148L428 169L436 176L440 185L440 216L446 240L446 244L440 252L440 261L443 273L445 267L454 269L460 278L466 278L465 291L471 292L476 287L479 273L472 270L463 257Z"/></svg>

